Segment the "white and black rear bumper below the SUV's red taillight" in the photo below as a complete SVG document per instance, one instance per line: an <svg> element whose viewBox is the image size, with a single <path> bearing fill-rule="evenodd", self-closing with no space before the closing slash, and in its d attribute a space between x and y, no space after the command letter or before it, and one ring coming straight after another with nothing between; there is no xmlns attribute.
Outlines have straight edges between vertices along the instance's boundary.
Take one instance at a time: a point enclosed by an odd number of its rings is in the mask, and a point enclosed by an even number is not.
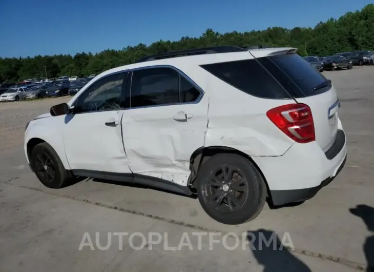
<svg viewBox="0 0 374 272"><path fill-rule="evenodd" d="M343 168L347 141L339 121L336 140L325 153L317 142L295 143L283 156L253 157L268 184L274 205L310 199Z"/></svg>

